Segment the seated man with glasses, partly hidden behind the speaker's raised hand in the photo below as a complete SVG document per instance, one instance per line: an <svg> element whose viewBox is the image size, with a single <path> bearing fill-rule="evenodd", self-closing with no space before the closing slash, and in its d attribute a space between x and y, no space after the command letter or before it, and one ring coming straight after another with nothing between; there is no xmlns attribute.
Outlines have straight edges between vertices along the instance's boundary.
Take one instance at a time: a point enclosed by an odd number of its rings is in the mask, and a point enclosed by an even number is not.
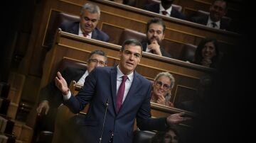
<svg viewBox="0 0 256 143"><path fill-rule="evenodd" d="M67 79L68 84L75 80L78 84L84 84L85 77L95 67L104 67L107 64L107 56L102 50L92 51L87 60L87 70L81 68L67 67L63 70L63 76ZM38 115L45 115L39 120L38 130L54 130L55 115L57 108L63 102L63 95L55 86L54 80L41 89L39 95L39 105L36 109Z"/></svg>

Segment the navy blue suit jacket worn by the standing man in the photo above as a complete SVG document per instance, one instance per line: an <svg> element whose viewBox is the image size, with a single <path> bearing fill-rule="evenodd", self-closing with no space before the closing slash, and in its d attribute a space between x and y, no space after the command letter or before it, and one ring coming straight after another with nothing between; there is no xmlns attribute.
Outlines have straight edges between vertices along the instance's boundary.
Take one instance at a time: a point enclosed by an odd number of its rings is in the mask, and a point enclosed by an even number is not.
<svg viewBox="0 0 256 143"><path fill-rule="evenodd" d="M166 118L151 118L151 83L134 71L134 79L127 97L116 113L117 67L96 67L85 79L84 88L77 96L65 101L73 113L78 113L87 103L90 107L80 132L83 142L99 142L102 123L107 108L102 143L110 140L114 132L114 143L132 143L134 120L141 130L164 130Z"/></svg>

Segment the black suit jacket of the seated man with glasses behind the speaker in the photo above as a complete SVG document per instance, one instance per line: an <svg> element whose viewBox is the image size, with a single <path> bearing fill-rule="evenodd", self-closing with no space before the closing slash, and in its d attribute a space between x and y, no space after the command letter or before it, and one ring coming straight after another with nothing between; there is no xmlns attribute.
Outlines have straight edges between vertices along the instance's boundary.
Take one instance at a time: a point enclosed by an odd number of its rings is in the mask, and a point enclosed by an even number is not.
<svg viewBox="0 0 256 143"><path fill-rule="evenodd" d="M78 81L83 74L85 74L86 69L84 68L74 68L67 67L61 73L63 78L70 84L71 81ZM43 87L40 92L39 103L43 100L47 100L50 103L50 108L58 108L58 106L63 103L63 94L55 86L55 81L50 81L50 83Z"/></svg>

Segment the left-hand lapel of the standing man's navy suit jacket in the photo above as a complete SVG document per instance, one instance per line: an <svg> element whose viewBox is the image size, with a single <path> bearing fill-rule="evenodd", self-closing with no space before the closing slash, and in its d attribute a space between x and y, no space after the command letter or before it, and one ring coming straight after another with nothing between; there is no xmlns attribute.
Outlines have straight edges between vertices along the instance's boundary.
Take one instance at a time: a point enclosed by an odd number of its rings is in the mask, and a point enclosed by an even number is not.
<svg viewBox="0 0 256 143"><path fill-rule="evenodd" d="M114 104L114 110L116 110L117 103L117 67L114 67L110 71L110 83L111 83L111 91L112 91L112 101Z"/></svg>

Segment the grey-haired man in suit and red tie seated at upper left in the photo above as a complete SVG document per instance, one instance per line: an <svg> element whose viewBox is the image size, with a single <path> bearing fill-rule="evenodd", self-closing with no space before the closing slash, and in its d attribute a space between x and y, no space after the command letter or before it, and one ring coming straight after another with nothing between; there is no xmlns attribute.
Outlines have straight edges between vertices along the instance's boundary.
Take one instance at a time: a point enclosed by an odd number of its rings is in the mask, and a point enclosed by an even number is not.
<svg viewBox="0 0 256 143"><path fill-rule="evenodd" d="M80 22L61 23L60 29L67 33L73 33L75 35L85 36L86 38L108 42L110 37L96 27L99 20L99 6L87 3L82 6L80 11Z"/></svg>

